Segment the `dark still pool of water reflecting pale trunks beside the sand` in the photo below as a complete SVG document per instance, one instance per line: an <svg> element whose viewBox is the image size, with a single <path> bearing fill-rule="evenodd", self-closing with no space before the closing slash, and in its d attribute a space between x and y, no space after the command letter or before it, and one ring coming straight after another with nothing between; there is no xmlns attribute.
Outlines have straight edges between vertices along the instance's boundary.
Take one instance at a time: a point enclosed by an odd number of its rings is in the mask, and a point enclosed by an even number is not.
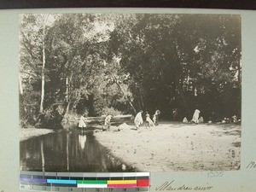
<svg viewBox="0 0 256 192"><path fill-rule="evenodd" d="M96 141L93 131L61 130L20 142L20 169L45 172L135 172Z"/></svg>

